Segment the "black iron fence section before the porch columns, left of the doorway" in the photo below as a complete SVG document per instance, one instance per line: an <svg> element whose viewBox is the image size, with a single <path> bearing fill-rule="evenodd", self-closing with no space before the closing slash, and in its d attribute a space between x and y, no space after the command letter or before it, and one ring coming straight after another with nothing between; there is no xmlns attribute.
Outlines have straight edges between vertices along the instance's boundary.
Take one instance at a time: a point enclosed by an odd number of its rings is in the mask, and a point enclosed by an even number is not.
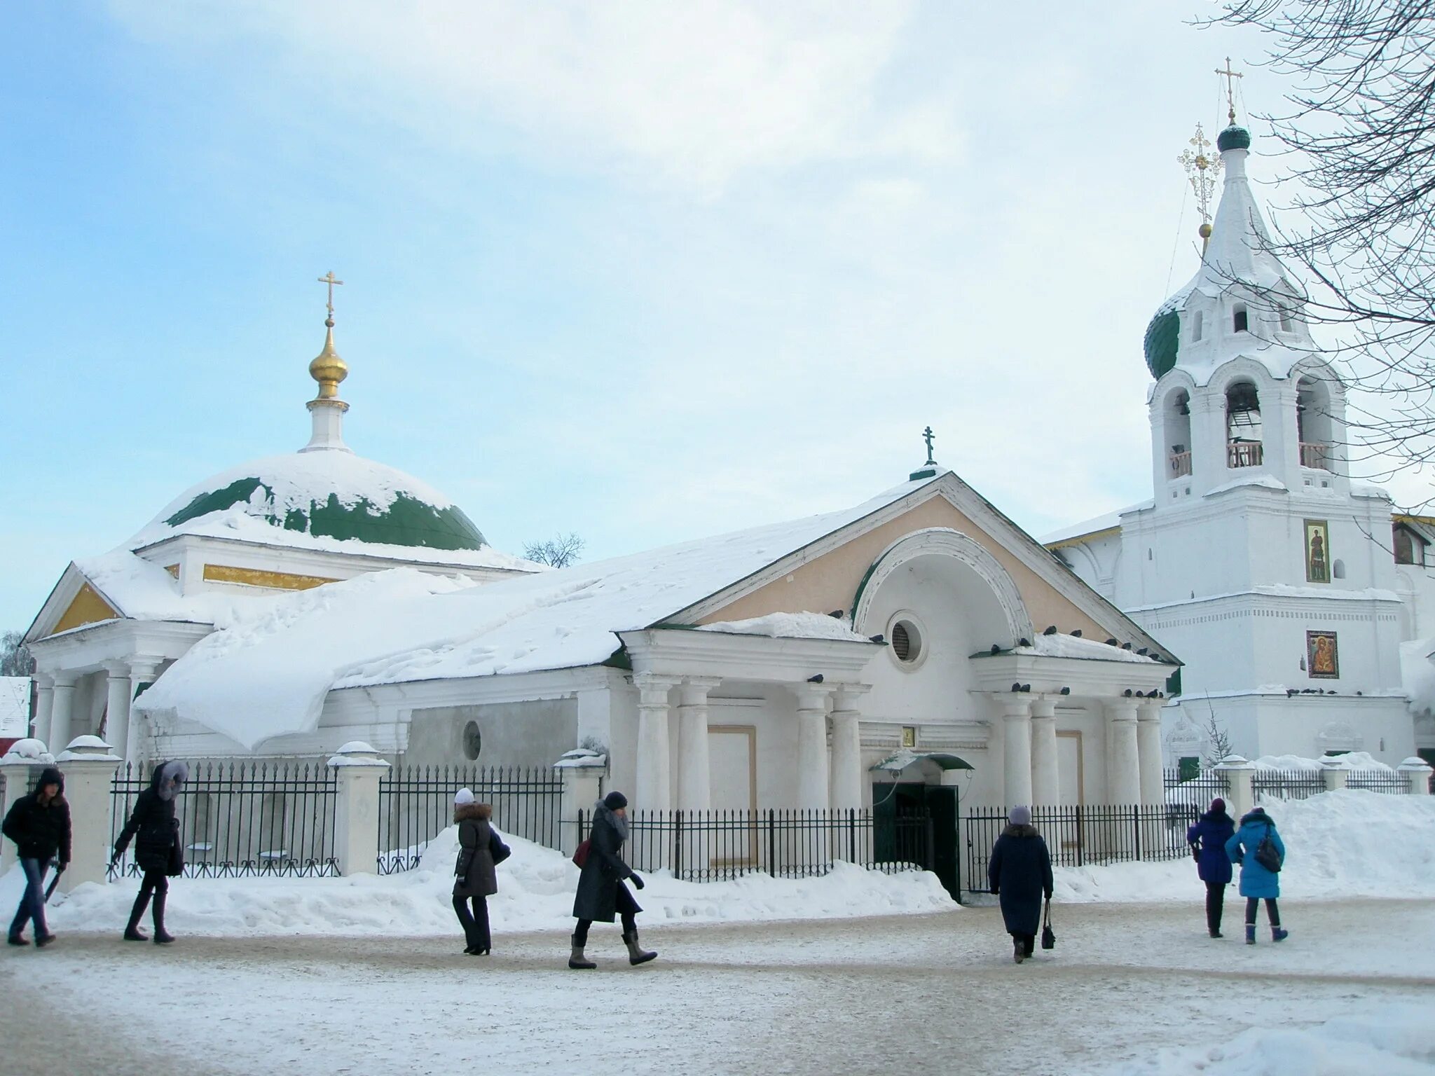
<svg viewBox="0 0 1435 1076"><path fill-rule="evenodd" d="M587 836L588 812L578 812ZM812 878L842 861L897 874L933 869L926 811L874 818L871 811L634 811L623 856L634 871L667 868L695 882L745 874Z"/></svg>

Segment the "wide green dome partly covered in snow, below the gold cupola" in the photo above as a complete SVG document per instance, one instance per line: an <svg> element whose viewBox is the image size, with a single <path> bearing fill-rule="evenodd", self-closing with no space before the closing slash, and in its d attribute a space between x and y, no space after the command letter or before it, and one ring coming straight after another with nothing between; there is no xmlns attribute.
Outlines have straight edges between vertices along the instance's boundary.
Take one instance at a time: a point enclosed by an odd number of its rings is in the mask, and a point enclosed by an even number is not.
<svg viewBox="0 0 1435 1076"><path fill-rule="evenodd" d="M254 522L265 527L254 531ZM375 545L486 547L474 522L442 494L350 452L273 456L215 475L181 494L142 534L154 541L197 525L251 539L273 527Z"/></svg>

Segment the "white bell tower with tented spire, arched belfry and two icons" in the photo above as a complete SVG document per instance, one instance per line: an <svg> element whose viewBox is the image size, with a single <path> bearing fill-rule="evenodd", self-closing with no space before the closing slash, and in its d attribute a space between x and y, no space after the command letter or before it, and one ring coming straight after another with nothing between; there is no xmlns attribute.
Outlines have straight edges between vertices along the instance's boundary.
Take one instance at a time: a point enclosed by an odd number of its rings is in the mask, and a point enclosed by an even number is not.
<svg viewBox="0 0 1435 1076"><path fill-rule="evenodd" d="M1431 535L1406 516L1392 529L1388 494L1350 478L1346 389L1270 253L1250 141L1234 121L1220 133L1208 245L1147 329L1152 499L1043 541L1185 663L1168 763L1200 758L1214 720L1248 758L1396 765L1435 747L1428 713L1416 743L1401 663L1431 633ZM1406 659L1428 670L1431 650Z"/></svg>

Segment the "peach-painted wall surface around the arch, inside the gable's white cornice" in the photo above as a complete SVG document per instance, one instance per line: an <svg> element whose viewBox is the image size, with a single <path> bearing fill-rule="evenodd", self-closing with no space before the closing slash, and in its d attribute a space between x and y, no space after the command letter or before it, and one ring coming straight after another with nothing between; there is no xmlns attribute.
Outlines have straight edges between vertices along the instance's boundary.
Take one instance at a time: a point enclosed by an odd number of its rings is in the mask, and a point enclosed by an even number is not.
<svg viewBox="0 0 1435 1076"><path fill-rule="evenodd" d="M1010 574L1038 631L1048 624L1056 624L1062 631L1081 628L1091 637L1108 634L1049 582L1022 564L1006 547L941 496L924 501L895 519L890 519L815 561L795 568L789 575L736 598L723 608L699 618L697 623L746 620L769 613L851 611L857 587L883 549L913 531L928 527L949 527L980 542Z"/></svg>

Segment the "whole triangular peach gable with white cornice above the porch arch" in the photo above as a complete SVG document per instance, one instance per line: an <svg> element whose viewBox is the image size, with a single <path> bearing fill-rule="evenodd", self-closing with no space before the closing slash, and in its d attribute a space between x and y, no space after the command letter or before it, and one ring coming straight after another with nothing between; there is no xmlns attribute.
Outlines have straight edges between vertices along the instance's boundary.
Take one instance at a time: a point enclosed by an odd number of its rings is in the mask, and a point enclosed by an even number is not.
<svg viewBox="0 0 1435 1076"><path fill-rule="evenodd" d="M990 552L1016 584L1035 631L1055 624L1063 633L1079 628L1098 641L1114 637L1168 654L951 472L680 610L670 621L705 624L802 610L851 613L862 580L883 551L927 528L960 531Z"/></svg>

